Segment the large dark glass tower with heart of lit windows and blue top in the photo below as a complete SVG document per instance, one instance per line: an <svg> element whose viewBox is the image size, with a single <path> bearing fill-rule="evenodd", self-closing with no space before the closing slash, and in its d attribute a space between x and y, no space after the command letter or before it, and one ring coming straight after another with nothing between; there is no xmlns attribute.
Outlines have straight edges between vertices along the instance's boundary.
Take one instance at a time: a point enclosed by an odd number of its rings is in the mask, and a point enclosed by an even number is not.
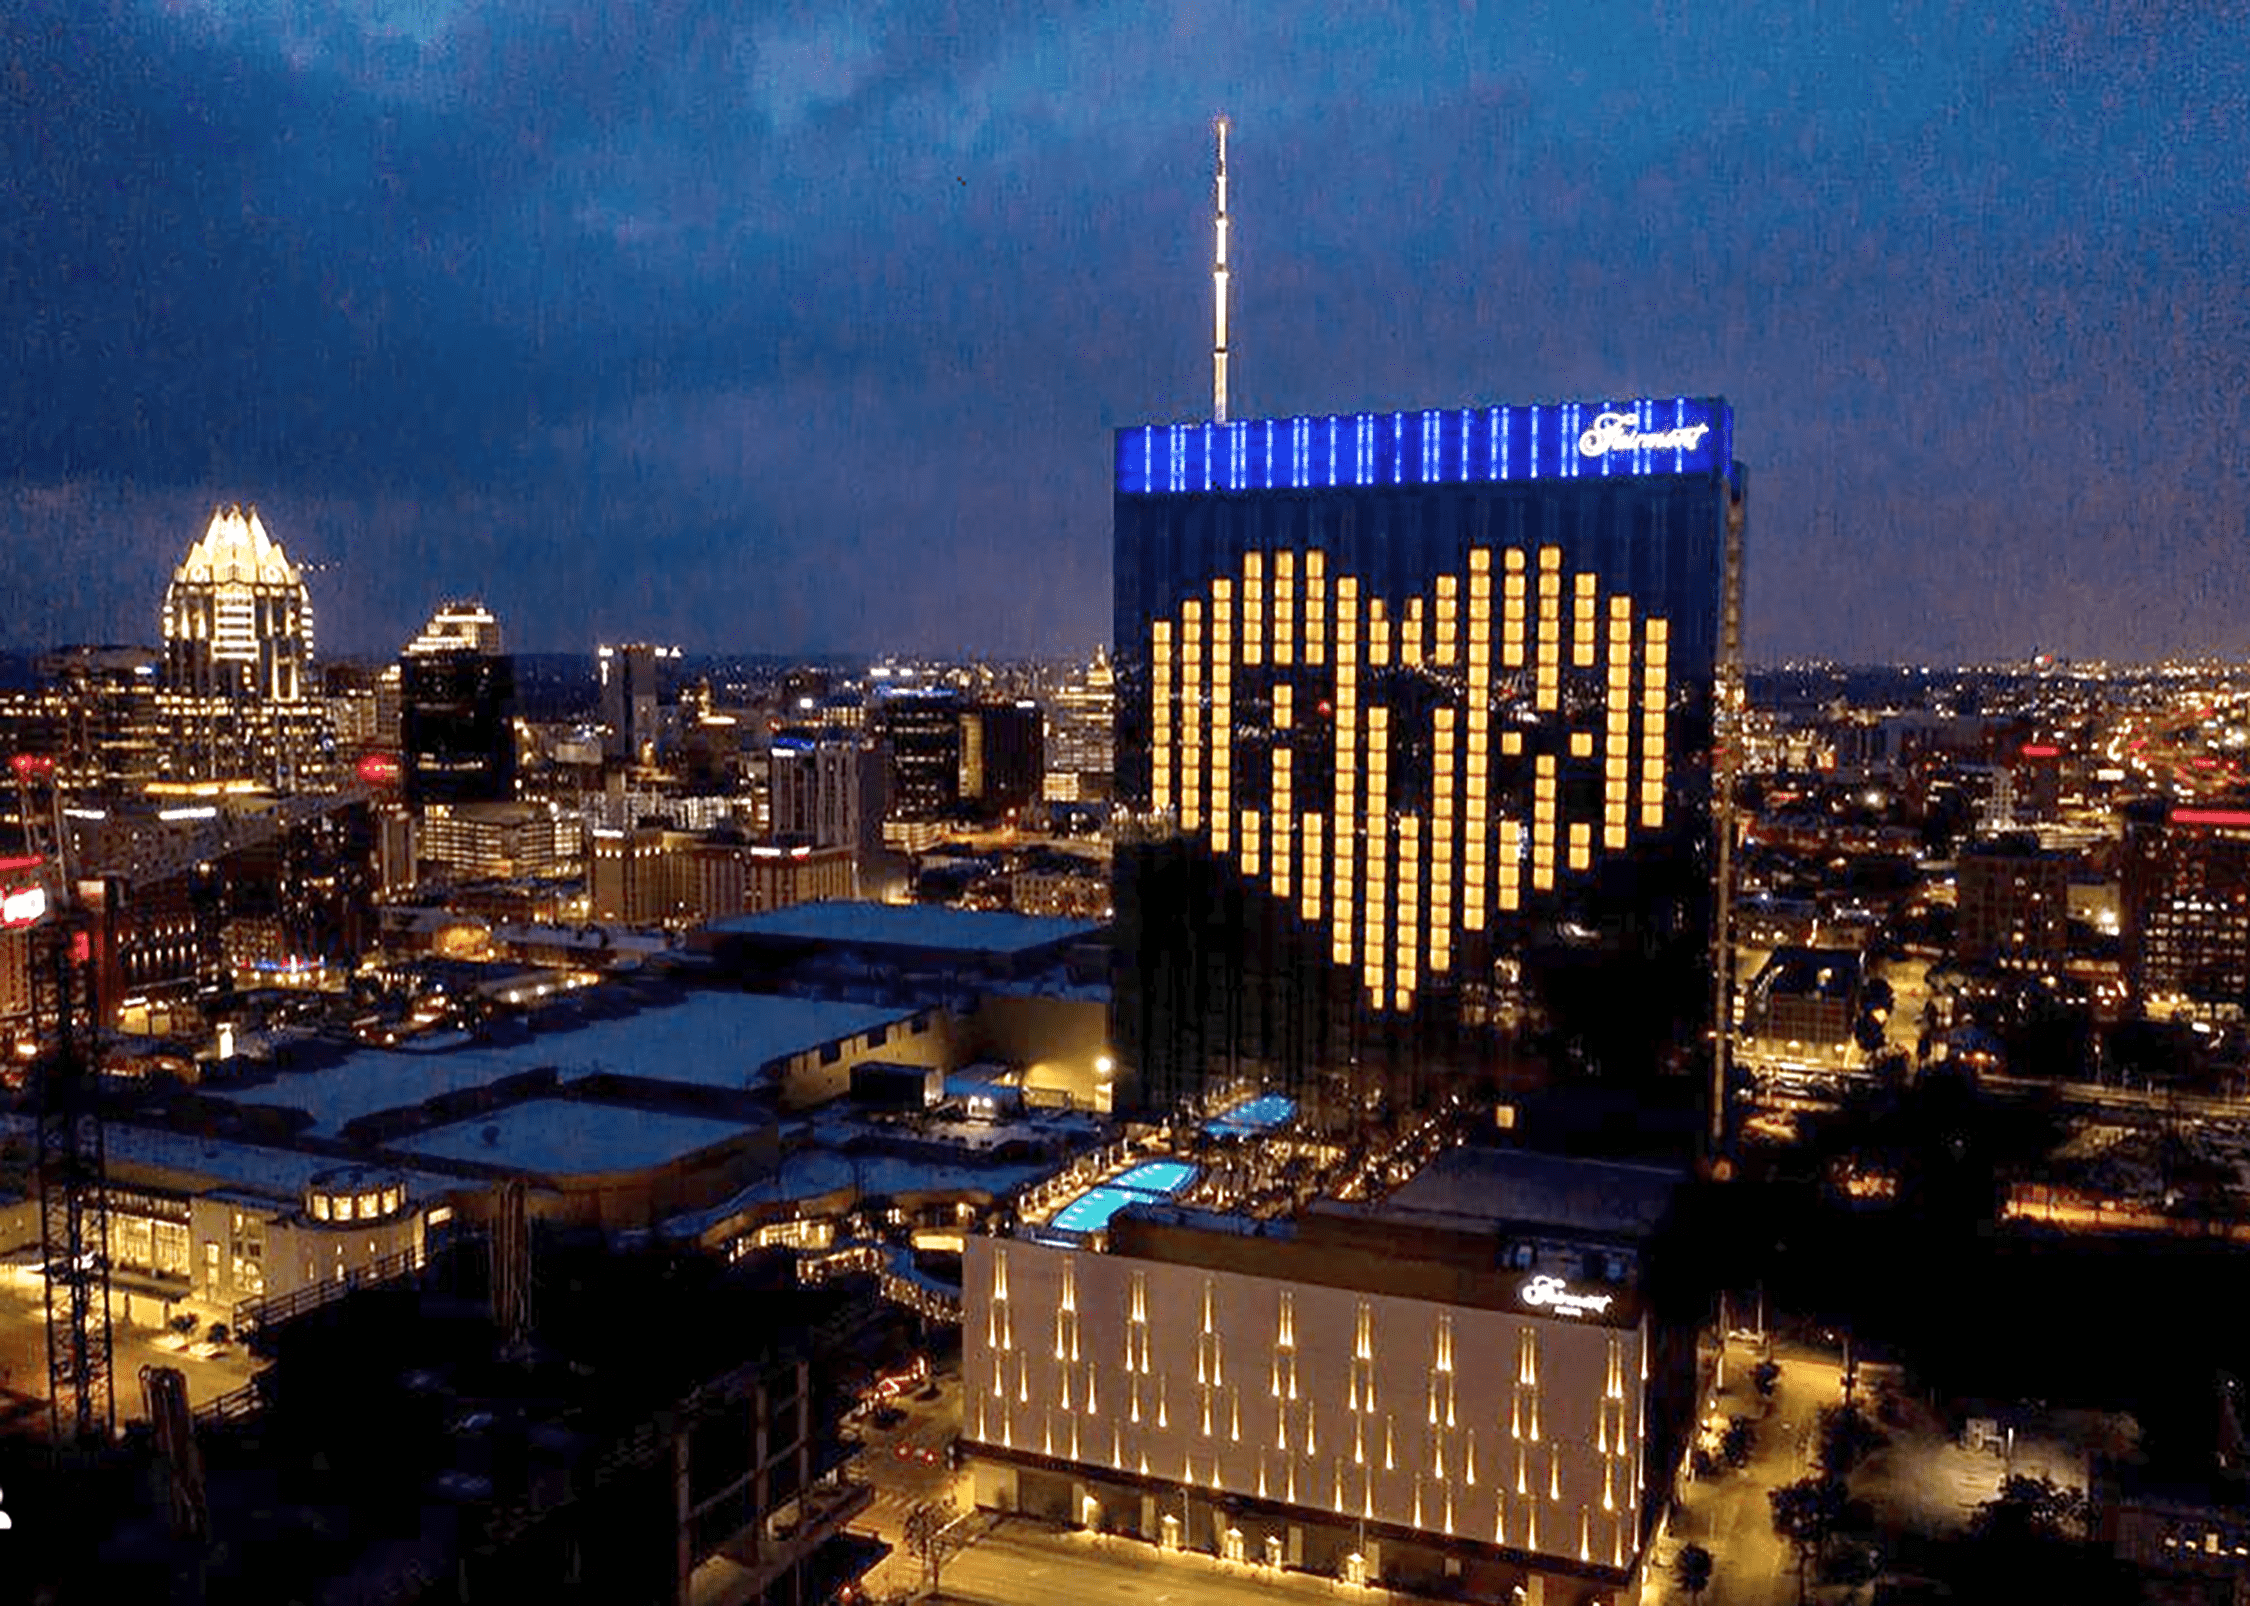
<svg viewBox="0 0 2250 1606"><path fill-rule="evenodd" d="M1717 1084L1744 506L1724 400L1123 430L1143 1095Z"/></svg>

